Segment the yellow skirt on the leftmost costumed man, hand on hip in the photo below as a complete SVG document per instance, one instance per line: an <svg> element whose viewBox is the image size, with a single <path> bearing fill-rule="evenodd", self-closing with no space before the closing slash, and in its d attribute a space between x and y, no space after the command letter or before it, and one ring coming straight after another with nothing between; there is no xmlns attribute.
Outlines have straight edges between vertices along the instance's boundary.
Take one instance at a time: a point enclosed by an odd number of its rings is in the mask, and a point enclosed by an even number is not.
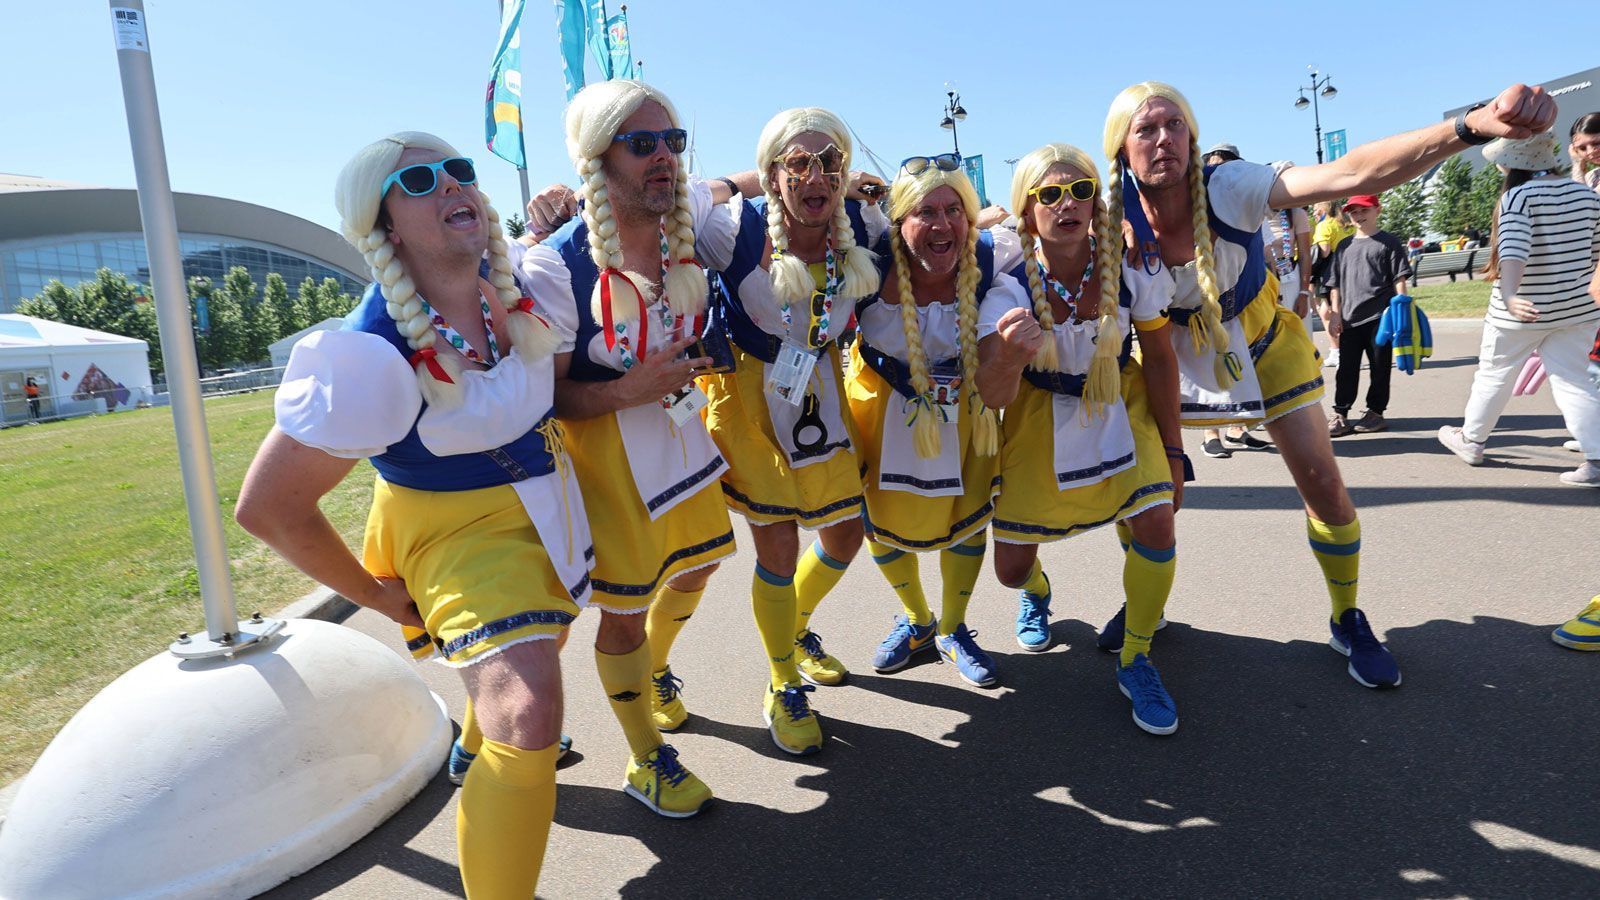
<svg viewBox="0 0 1600 900"><path fill-rule="evenodd" d="M582 585L562 585L539 532L510 485L413 490L382 477L373 488L362 565L402 578L427 631L405 629L411 655L446 665L555 637L574 618Z"/></svg>

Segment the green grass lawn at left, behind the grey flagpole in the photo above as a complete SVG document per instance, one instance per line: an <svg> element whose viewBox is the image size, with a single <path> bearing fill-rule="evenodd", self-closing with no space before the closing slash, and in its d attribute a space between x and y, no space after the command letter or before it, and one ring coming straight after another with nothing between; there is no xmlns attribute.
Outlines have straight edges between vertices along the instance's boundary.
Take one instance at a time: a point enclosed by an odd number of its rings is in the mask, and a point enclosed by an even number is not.
<svg viewBox="0 0 1600 900"><path fill-rule="evenodd" d="M315 585L234 522L272 392L206 400L238 612L277 612ZM323 511L358 548L373 471ZM0 431L0 785L27 772L106 684L205 631L166 408Z"/></svg>

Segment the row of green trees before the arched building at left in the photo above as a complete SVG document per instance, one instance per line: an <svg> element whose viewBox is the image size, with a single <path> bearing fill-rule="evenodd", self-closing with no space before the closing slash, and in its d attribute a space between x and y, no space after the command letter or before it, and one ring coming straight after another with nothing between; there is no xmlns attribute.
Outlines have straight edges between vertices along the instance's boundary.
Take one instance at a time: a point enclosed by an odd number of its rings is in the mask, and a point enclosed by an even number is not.
<svg viewBox="0 0 1600 900"><path fill-rule="evenodd" d="M150 373L160 376L162 338L155 323L155 293L122 272L101 269L93 282L67 287L51 280L38 296L18 303L16 312L80 328L138 338L150 344ZM235 368L267 362L278 338L355 307L338 279L320 283L307 277L294 296L277 272L266 288L243 266L234 266L221 283L205 275L189 279L189 315L202 370ZM203 317L202 317L203 309Z"/></svg>

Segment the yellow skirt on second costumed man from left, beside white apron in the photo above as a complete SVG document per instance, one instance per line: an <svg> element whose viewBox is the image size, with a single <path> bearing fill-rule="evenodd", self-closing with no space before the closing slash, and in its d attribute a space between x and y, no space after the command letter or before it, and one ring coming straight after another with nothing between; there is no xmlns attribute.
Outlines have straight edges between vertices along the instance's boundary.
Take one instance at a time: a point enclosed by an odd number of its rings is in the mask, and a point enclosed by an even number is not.
<svg viewBox="0 0 1600 900"><path fill-rule="evenodd" d="M616 416L562 420L562 428L595 543L592 605L645 612L656 589L678 572L733 556L733 524L715 485L653 520L634 487Z"/></svg>

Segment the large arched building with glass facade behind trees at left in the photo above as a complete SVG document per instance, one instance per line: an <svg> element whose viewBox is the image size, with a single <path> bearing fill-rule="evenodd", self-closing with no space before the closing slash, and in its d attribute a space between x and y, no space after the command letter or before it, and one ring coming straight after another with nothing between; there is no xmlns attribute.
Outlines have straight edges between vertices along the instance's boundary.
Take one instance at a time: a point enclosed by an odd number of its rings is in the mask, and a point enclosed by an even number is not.
<svg viewBox="0 0 1600 900"><path fill-rule="evenodd" d="M234 266L256 283L278 272L290 291L307 279L338 279L360 295L366 264L336 232L267 207L176 194L184 275L221 282ZM150 282L134 191L0 175L0 312L43 290L93 280L109 267Z"/></svg>

